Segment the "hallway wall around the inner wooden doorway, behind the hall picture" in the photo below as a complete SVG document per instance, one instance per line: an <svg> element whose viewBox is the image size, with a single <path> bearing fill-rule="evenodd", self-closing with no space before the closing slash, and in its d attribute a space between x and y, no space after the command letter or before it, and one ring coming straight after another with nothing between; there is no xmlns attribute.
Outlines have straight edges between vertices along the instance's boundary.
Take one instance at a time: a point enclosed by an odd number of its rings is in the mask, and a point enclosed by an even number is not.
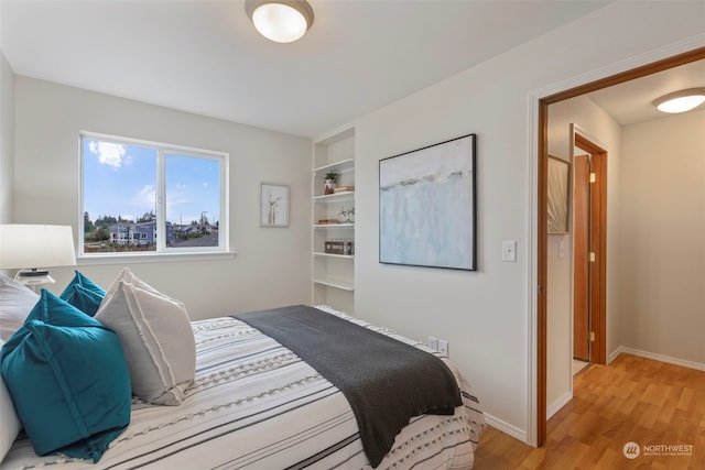
<svg viewBox="0 0 705 470"><path fill-rule="evenodd" d="M618 346L619 319L614 308L616 266L612 254L619 233L619 178L621 128L585 96L560 101L549 107L549 154L571 159L571 123L575 123L607 150L607 354ZM573 212L571 211L571 219ZM558 242L566 247L558 258ZM547 267L547 345L546 408L555 412L573 396L573 231L567 236L549 236Z"/></svg>

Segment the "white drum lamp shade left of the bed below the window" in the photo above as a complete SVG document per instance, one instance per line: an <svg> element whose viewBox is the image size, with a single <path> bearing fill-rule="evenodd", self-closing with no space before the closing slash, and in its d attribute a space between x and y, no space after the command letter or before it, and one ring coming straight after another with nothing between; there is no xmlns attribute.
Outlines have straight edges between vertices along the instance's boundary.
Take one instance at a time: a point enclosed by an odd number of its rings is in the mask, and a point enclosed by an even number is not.
<svg viewBox="0 0 705 470"><path fill-rule="evenodd" d="M70 226L0 225L0 269L76 264Z"/></svg>

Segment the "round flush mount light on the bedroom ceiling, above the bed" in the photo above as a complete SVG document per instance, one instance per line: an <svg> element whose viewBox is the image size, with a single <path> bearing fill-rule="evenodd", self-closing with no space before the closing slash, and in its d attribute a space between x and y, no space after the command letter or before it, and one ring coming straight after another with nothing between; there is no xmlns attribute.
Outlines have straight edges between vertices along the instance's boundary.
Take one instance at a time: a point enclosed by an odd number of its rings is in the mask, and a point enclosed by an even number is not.
<svg viewBox="0 0 705 470"><path fill-rule="evenodd" d="M313 9L305 0L247 0L245 11L268 40L291 43L313 24Z"/></svg>

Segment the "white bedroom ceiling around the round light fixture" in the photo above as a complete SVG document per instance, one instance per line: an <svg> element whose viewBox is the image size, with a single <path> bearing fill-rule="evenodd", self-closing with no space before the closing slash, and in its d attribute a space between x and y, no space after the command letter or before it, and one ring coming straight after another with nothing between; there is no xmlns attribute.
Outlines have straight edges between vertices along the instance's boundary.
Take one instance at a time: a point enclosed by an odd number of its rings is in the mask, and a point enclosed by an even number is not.
<svg viewBox="0 0 705 470"><path fill-rule="evenodd" d="M0 0L0 47L17 75L318 136L610 1L308 0L278 44L243 0Z"/></svg>

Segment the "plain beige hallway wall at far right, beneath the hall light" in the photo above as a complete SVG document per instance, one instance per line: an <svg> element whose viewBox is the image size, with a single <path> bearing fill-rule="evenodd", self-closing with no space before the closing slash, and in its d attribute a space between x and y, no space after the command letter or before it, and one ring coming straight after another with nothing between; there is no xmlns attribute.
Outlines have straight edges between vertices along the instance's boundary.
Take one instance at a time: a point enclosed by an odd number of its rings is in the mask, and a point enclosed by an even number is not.
<svg viewBox="0 0 705 470"><path fill-rule="evenodd" d="M622 131L621 346L705 370L705 110Z"/></svg>

